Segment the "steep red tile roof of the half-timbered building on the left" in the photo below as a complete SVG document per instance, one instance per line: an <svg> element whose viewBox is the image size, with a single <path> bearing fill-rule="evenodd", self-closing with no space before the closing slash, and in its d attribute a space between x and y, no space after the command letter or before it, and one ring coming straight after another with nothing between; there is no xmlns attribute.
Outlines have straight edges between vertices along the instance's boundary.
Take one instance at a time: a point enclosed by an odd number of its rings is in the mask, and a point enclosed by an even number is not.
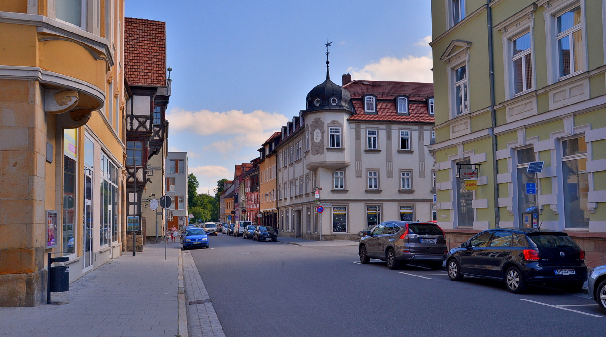
<svg viewBox="0 0 606 337"><path fill-rule="evenodd" d="M124 18L124 77L130 86L166 86L166 22Z"/></svg>

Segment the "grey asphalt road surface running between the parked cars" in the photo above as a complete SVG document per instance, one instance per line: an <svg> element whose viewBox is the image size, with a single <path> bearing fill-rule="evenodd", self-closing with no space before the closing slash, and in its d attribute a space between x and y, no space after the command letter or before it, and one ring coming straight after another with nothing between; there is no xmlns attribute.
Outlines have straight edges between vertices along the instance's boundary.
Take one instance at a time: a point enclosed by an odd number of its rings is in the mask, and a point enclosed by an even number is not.
<svg viewBox="0 0 606 337"><path fill-rule="evenodd" d="M361 265L355 246L209 240L213 249L191 255L228 337L606 335L606 315L587 294L519 295L444 271Z"/></svg>

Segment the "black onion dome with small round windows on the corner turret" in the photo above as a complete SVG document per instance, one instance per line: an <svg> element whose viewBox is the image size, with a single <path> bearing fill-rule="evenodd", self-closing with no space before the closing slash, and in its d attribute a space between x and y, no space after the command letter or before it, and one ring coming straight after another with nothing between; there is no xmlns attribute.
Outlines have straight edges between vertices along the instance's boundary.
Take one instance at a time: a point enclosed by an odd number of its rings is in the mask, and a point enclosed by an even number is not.
<svg viewBox="0 0 606 337"><path fill-rule="evenodd" d="M307 94L305 108L305 112L318 110L344 110L352 114L355 112L351 103L351 95L347 89L330 80L328 61L326 61L326 80Z"/></svg>

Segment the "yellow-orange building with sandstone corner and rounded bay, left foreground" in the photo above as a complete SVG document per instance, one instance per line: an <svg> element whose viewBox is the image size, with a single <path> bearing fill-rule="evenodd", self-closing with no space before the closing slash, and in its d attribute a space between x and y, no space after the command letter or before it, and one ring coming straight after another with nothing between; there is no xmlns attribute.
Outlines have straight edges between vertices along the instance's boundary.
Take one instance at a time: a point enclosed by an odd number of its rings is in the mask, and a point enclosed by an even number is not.
<svg viewBox="0 0 606 337"><path fill-rule="evenodd" d="M0 2L0 306L46 296L121 254L122 0ZM60 255L55 255L60 256Z"/></svg>

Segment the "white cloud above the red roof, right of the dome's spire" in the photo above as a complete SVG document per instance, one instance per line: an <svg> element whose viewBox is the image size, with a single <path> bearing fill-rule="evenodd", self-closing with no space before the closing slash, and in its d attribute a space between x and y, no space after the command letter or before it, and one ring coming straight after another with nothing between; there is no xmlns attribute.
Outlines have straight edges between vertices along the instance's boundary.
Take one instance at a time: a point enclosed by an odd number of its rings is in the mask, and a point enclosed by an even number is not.
<svg viewBox="0 0 606 337"><path fill-rule="evenodd" d="M433 59L428 56L384 57L362 69L347 69L356 80L407 81L433 83Z"/></svg>

